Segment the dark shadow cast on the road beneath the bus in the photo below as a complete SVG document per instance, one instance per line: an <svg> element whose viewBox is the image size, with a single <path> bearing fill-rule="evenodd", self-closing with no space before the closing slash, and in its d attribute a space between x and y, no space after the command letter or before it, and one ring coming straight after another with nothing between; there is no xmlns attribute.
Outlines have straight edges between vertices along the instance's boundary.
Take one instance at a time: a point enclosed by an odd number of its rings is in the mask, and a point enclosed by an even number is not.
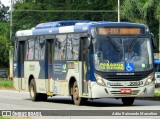
<svg viewBox="0 0 160 119"><path fill-rule="evenodd" d="M25 99L31 101L29 98ZM160 105L160 102L150 101L149 100L135 100L133 103L133 107L137 106L153 106L153 105ZM39 101L42 102L42 101ZM74 105L72 99L70 97L63 97L63 96L55 96L49 97L45 103L55 103L55 104L66 104L66 105ZM123 105L121 99L117 100L114 98L104 98L104 99L95 99L95 100L88 100L85 105L88 107L126 107Z"/></svg>

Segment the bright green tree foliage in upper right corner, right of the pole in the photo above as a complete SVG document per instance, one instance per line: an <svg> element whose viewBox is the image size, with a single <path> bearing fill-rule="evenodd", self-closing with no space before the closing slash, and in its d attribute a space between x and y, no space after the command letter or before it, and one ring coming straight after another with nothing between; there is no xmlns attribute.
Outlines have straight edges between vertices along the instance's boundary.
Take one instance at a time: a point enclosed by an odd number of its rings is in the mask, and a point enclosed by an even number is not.
<svg viewBox="0 0 160 119"><path fill-rule="evenodd" d="M124 0L121 9L122 18L127 18L131 22L147 24L158 40L159 0Z"/></svg>

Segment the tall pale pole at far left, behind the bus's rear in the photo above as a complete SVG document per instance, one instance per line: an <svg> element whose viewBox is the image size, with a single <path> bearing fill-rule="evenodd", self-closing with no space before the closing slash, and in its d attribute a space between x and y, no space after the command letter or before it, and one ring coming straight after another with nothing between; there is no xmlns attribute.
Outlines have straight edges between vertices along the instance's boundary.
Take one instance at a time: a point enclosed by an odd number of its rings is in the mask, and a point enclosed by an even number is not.
<svg viewBox="0 0 160 119"><path fill-rule="evenodd" d="M10 6L10 42L12 43L12 11L13 11L13 1L11 0ZM9 51L9 78L13 78L13 53L12 50Z"/></svg>

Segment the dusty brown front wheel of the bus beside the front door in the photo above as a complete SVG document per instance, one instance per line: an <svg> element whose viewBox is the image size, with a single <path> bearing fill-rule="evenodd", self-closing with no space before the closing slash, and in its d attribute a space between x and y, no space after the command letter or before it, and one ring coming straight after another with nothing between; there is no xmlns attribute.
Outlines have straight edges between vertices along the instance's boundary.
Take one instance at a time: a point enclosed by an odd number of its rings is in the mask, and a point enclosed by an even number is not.
<svg viewBox="0 0 160 119"><path fill-rule="evenodd" d="M73 90L72 99L75 105L83 105L87 102L88 98L79 97L79 88L77 81L74 82L72 90Z"/></svg>

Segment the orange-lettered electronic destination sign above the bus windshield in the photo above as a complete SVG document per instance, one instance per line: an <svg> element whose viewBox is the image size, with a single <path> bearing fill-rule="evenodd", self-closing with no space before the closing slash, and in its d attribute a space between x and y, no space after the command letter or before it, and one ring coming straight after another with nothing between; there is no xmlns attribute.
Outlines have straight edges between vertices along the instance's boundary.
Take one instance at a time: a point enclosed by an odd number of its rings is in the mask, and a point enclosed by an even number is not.
<svg viewBox="0 0 160 119"><path fill-rule="evenodd" d="M139 35L142 33L141 28L106 28L106 27L98 27L97 34L105 35L105 34L115 34L115 35Z"/></svg>

